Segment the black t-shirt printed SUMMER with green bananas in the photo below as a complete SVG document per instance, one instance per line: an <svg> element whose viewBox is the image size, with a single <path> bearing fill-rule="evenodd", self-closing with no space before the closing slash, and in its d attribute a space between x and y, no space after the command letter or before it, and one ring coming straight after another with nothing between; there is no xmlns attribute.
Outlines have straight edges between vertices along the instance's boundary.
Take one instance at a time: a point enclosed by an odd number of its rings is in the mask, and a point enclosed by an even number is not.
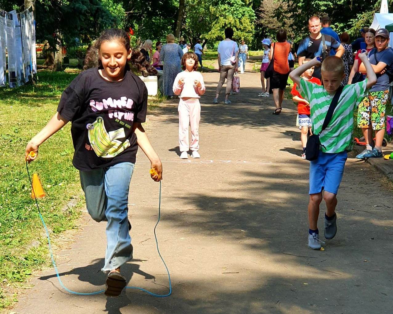
<svg viewBox="0 0 393 314"><path fill-rule="evenodd" d="M125 71L119 82L106 81L98 68L80 73L61 95L57 111L71 123L72 163L82 171L119 162L135 163L138 144L133 122L146 119L147 88Z"/></svg>

